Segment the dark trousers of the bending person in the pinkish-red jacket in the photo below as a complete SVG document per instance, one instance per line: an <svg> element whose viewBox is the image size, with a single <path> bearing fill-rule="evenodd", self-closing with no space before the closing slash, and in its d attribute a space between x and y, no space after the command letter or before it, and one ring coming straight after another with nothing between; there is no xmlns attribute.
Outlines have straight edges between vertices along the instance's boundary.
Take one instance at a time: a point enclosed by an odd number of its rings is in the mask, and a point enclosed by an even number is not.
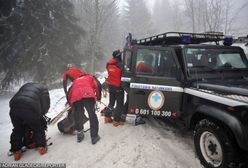
<svg viewBox="0 0 248 168"><path fill-rule="evenodd" d="M82 120L84 116L84 108L86 108L89 114L90 136L91 138L96 137L98 135L99 122L95 113L95 99L93 98L81 99L72 105L75 119L75 129L77 131L82 131L84 129L84 123Z"/></svg>

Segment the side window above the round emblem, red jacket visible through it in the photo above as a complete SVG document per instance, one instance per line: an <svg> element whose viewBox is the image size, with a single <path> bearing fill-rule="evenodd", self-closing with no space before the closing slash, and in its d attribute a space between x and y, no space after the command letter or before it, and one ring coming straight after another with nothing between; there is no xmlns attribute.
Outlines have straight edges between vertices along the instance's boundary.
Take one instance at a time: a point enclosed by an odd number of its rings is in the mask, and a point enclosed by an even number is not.
<svg viewBox="0 0 248 168"><path fill-rule="evenodd" d="M138 49L137 74L175 77L175 72L176 63L170 51Z"/></svg>

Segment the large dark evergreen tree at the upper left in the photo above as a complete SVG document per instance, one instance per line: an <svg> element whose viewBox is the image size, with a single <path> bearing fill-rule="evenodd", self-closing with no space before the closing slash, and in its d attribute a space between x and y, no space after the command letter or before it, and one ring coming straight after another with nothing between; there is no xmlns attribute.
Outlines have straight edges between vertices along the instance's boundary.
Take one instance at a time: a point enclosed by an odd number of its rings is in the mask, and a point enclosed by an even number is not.
<svg viewBox="0 0 248 168"><path fill-rule="evenodd" d="M0 23L2 88L20 79L51 83L67 63L81 62L76 46L84 31L68 0L18 0Z"/></svg>

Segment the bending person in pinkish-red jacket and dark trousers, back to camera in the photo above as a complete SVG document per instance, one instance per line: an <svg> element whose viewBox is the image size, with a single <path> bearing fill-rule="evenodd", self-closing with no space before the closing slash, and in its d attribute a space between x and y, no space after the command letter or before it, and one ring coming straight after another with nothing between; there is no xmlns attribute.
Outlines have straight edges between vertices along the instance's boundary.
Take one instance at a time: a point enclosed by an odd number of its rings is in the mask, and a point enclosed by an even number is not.
<svg viewBox="0 0 248 168"><path fill-rule="evenodd" d="M77 142L84 139L84 124L83 115L84 108L88 112L90 121L90 136L92 144L100 140L98 135L99 122L95 113L96 99L101 99L101 85L100 82L89 74L75 79L68 92L69 104L72 106L75 120L75 129L77 131Z"/></svg>

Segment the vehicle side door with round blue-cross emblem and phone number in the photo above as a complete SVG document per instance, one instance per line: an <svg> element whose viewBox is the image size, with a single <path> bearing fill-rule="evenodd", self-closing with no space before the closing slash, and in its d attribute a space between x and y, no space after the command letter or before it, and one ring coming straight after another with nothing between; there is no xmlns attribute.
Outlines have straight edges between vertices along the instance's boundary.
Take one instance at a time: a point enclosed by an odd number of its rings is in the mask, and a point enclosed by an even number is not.
<svg viewBox="0 0 248 168"><path fill-rule="evenodd" d="M128 112L177 117L183 88L179 63L171 48L136 46L132 53Z"/></svg>

